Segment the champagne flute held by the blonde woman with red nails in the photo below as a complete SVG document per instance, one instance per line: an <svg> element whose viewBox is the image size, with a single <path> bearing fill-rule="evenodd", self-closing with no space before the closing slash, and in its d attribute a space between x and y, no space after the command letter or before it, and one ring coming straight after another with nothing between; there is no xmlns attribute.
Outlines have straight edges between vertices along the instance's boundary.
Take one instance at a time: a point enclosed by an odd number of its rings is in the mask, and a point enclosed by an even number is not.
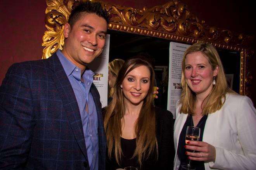
<svg viewBox="0 0 256 170"><path fill-rule="evenodd" d="M188 141L198 141L199 136L200 136L200 128L197 128L195 126L188 126L186 131L185 144ZM195 170L195 167L192 167L192 165L190 164L190 159L188 159L187 165L182 165L182 168L186 170Z"/></svg>

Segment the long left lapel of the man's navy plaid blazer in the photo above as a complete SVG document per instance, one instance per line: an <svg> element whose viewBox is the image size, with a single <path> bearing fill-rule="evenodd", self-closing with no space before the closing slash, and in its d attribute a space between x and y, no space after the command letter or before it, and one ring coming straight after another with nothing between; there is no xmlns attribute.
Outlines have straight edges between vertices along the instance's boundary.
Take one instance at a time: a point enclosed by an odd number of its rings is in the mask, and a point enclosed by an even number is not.
<svg viewBox="0 0 256 170"><path fill-rule="evenodd" d="M67 78L61 62L59 61L59 58L57 57L57 54L53 54L48 61L49 68L54 71L52 78L61 96L69 124L83 155L88 160L80 111L73 88Z"/></svg>

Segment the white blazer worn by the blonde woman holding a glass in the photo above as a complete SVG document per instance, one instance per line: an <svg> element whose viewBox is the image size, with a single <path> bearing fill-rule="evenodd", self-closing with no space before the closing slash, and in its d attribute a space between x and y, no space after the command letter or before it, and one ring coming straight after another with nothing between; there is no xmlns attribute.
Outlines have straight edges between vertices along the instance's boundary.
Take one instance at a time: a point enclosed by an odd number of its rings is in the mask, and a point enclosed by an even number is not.
<svg viewBox="0 0 256 170"><path fill-rule="evenodd" d="M180 107L176 104L174 170L180 167L177 147L188 116L179 113ZM204 163L206 170L256 170L256 109L251 99L227 94L222 108L208 114L203 141L216 149L215 162Z"/></svg>

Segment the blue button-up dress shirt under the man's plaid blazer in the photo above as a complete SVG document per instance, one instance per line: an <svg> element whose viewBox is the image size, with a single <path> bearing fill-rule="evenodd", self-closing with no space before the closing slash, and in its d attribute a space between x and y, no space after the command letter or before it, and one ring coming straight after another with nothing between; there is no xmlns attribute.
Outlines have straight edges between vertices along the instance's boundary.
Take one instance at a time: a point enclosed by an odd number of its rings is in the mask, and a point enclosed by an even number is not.
<svg viewBox="0 0 256 170"><path fill-rule="evenodd" d="M81 69L71 63L60 50L57 51L57 56L61 61L78 102L90 170L98 170L98 116L92 94L90 93L94 73L86 68L82 75L83 81L81 81ZM88 112L86 112L86 103L88 104Z"/></svg>

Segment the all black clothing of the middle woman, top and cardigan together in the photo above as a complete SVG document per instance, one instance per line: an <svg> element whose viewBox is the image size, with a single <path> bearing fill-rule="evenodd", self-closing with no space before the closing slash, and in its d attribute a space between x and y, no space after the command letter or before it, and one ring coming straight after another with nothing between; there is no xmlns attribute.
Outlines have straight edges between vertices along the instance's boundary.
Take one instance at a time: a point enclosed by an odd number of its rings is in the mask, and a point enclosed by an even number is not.
<svg viewBox="0 0 256 170"><path fill-rule="evenodd" d="M159 107L154 107L154 109L156 112L158 159L156 160L156 154L153 153L149 155L147 160L142 160L142 166L140 167L137 163L137 158L129 159L129 157L133 156L135 151L136 139L129 140L121 138L121 148L125 155L121 158L121 166L118 166L114 154L112 154L111 158L107 156L106 170L116 170L117 168L124 168L126 166L137 167L138 170L173 169L173 160L175 155L173 143L173 114L168 110L163 110ZM105 110L103 110L103 116L105 116Z"/></svg>

